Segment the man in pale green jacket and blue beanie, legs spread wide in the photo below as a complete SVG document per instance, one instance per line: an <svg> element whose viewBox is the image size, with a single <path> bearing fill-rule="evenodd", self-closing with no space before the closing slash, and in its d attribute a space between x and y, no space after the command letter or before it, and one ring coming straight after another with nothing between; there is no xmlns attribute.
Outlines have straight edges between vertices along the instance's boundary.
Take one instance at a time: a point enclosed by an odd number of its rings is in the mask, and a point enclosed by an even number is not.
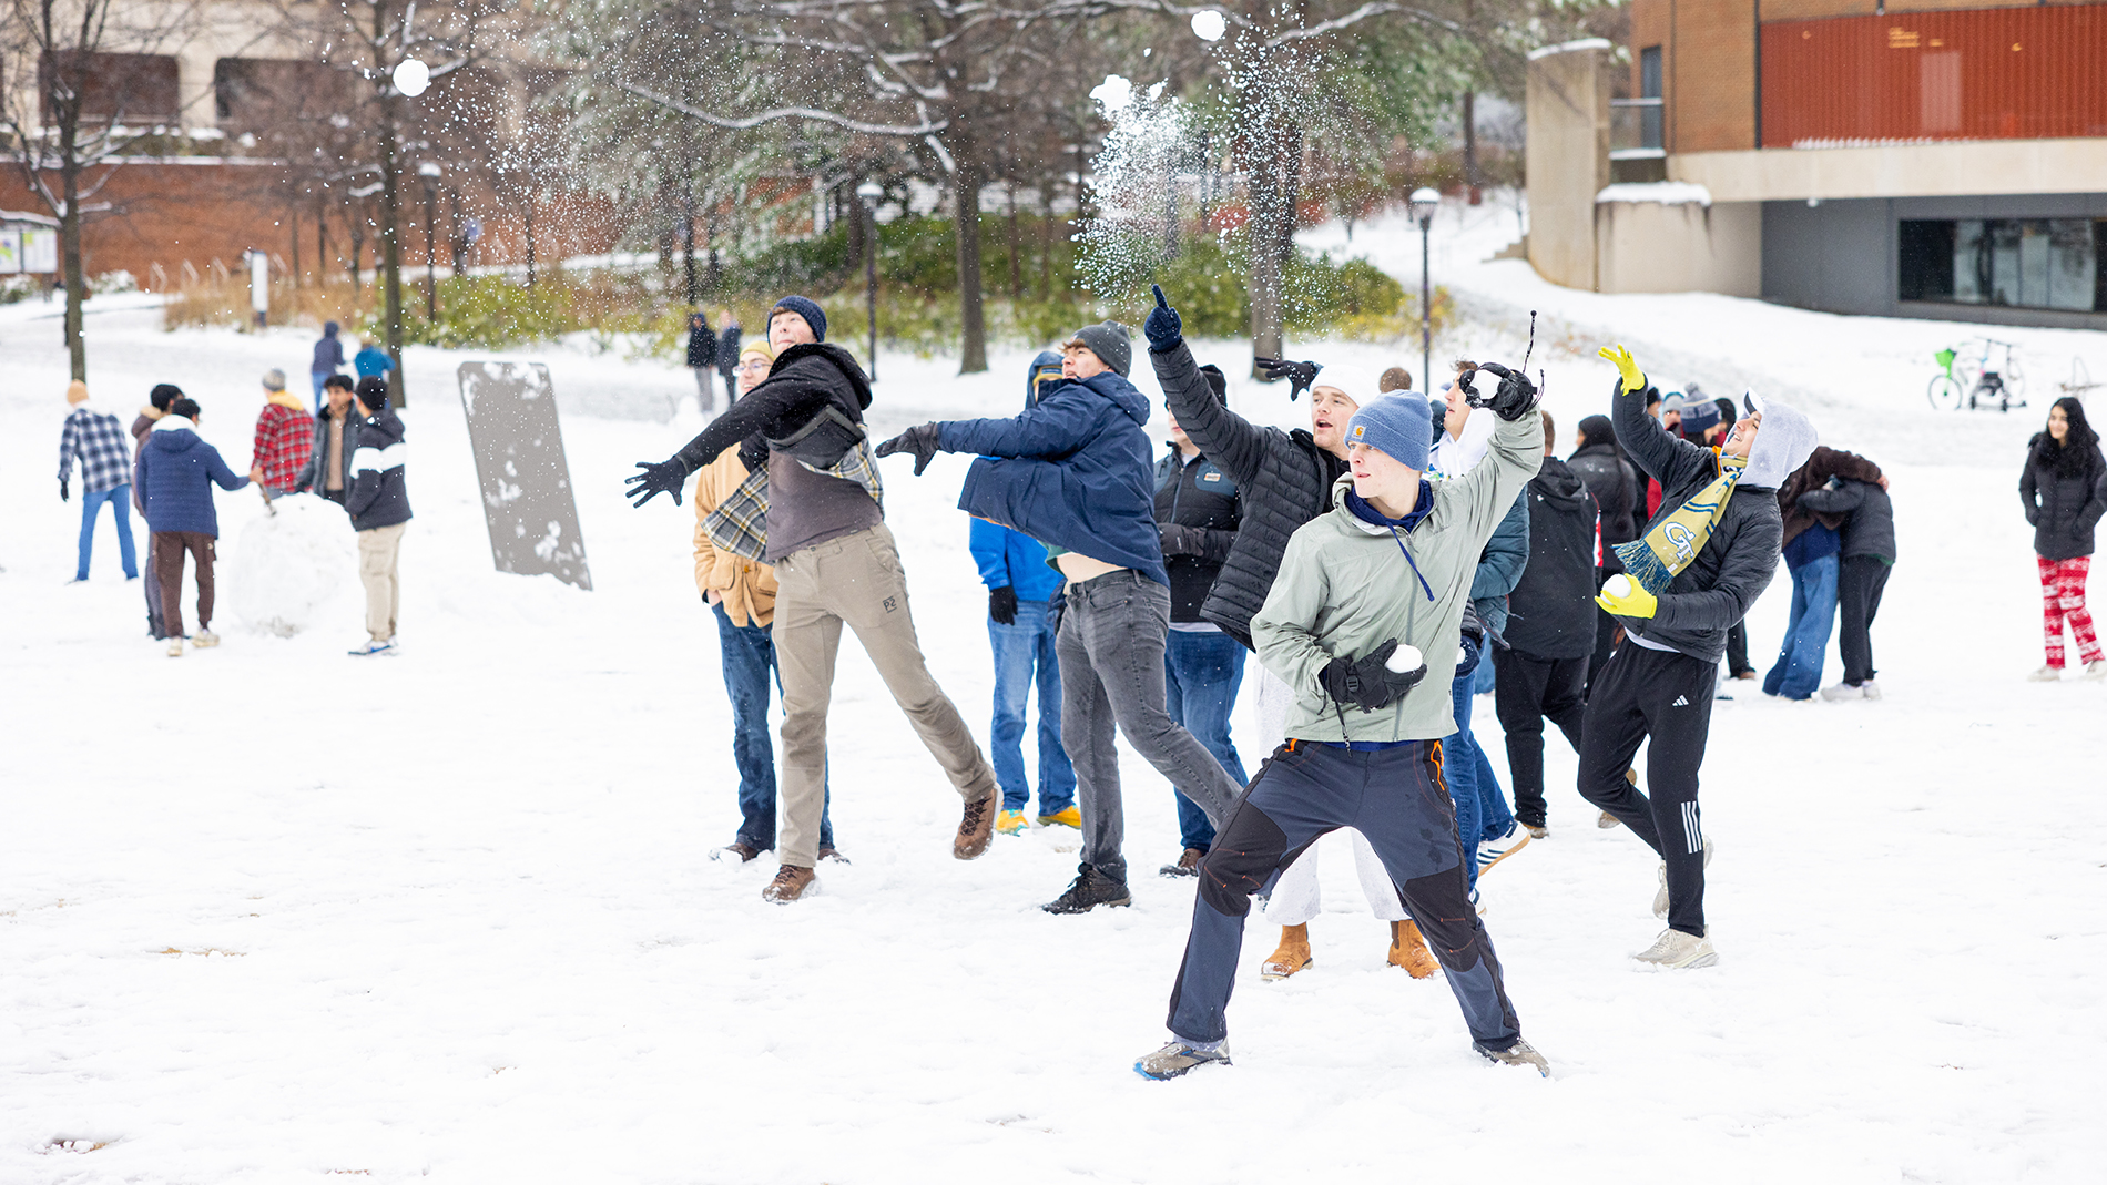
<svg viewBox="0 0 2107 1185"><path fill-rule="evenodd" d="M1134 1065L1178 1078L1228 1061L1228 993L1252 895L1319 836L1361 831L1382 857L1462 1004L1473 1048L1549 1073L1521 1040L1492 939L1469 903L1456 806L1441 781L1441 737L1456 730L1445 682L1477 556L1542 465L1536 387L1504 366L1490 406L1492 453L1466 476L1426 482L1433 417L1418 396L1380 396L1346 425L1351 474L1332 511L1287 543L1264 608L1258 659L1294 690L1287 743L1273 751L1201 861L1171 1044Z"/></svg>

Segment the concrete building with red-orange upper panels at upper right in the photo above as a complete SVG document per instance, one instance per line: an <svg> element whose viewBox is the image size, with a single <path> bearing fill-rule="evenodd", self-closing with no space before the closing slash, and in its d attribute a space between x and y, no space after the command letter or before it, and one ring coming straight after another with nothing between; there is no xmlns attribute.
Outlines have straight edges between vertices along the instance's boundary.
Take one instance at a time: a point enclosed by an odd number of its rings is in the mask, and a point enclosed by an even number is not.
<svg viewBox="0 0 2107 1185"><path fill-rule="evenodd" d="M1633 0L1530 61L1530 259L1603 293L2107 328L2107 4Z"/></svg>

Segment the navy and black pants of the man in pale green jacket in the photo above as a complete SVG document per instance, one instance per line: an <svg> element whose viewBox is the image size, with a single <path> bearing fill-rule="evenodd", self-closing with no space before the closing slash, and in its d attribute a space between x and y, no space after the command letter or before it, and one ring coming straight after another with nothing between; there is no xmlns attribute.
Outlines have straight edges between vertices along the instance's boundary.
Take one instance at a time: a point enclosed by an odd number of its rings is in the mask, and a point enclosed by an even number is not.
<svg viewBox="0 0 2107 1185"><path fill-rule="evenodd" d="M1448 972L1471 1038L1507 1048L1521 1038L1492 937L1471 907L1456 842L1456 806L1441 781L1439 741L1346 749L1289 741L1266 758L1214 848L1199 863L1193 937L1171 989L1169 1029L1188 1042L1228 1036L1228 993L1252 895L1325 831L1353 827L1391 873L1405 909Z"/></svg>

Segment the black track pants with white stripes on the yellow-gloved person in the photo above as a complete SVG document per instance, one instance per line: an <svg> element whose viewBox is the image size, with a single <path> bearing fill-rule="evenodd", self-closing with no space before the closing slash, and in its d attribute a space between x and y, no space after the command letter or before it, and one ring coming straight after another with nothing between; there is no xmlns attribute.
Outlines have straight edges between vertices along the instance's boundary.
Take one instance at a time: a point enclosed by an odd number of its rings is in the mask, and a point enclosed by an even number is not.
<svg viewBox="0 0 2107 1185"><path fill-rule="evenodd" d="M1669 926L1705 935L1705 831L1698 766L1711 732L1717 665L1624 642L1595 676L1580 730L1580 798L1616 815L1669 863ZM1639 743L1646 789L1624 781Z"/></svg>

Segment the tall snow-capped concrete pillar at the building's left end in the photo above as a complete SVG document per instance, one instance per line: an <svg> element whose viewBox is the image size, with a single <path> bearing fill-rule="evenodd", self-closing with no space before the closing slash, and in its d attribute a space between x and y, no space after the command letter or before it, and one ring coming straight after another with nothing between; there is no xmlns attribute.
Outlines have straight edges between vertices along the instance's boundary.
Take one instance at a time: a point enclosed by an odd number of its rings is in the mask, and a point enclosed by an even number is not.
<svg viewBox="0 0 2107 1185"><path fill-rule="evenodd" d="M1610 42L1530 53L1530 265L1595 290L1595 194L1610 183Z"/></svg>

